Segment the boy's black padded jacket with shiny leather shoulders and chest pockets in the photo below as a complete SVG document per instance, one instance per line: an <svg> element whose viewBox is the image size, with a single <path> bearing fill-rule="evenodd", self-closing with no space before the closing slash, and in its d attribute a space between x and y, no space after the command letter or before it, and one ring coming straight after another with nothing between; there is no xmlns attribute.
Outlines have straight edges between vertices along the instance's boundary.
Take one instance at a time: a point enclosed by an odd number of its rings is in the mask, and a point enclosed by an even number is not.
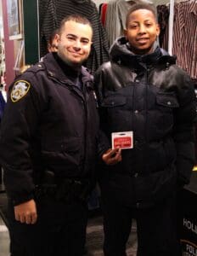
<svg viewBox="0 0 197 256"><path fill-rule="evenodd" d="M95 74L102 130L133 131L134 148L105 166L101 187L126 204L149 206L189 183L194 166L194 88L175 57L157 47L134 55L125 38ZM100 148L103 152L104 148Z"/></svg>

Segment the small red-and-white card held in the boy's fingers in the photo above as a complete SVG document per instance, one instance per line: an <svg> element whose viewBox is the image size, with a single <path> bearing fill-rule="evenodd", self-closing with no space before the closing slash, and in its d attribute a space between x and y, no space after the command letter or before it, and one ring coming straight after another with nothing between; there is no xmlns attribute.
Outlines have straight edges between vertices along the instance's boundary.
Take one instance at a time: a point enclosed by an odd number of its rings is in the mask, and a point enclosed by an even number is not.
<svg viewBox="0 0 197 256"><path fill-rule="evenodd" d="M112 149L114 148L133 148L133 132L132 131L120 131L111 133Z"/></svg>

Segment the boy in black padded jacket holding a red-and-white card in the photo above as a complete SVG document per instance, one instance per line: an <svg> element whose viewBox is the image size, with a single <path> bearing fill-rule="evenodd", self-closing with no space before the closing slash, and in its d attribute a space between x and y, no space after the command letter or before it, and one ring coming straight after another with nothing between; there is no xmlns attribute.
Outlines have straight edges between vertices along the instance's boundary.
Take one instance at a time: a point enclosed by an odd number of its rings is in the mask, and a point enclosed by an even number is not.
<svg viewBox="0 0 197 256"><path fill-rule="evenodd" d="M125 37L95 75L105 149L112 132L122 147L117 164L101 154L105 256L126 255L132 218L138 256L178 255L176 194L194 166L195 96L188 74L158 46L159 34L155 7L133 5Z"/></svg>

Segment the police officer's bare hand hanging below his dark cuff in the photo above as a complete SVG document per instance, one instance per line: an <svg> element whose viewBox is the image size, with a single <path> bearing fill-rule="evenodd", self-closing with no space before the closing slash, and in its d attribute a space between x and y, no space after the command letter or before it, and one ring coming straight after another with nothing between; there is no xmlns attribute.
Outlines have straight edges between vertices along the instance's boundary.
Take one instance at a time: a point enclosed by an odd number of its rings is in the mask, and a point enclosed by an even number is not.
<svg viewBox="0 0 197 256"><path fill-rule="evenodd" d="M26 201L14 207L15 219L25 224L35 224L37 222L37 206L35 201Z"/></svg>

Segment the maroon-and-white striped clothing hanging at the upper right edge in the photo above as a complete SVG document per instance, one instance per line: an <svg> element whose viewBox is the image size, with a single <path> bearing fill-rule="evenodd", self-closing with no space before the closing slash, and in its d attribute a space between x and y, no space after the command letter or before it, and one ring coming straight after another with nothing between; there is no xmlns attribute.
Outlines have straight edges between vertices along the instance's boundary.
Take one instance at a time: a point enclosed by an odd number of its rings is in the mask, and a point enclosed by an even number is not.
<svg viewBox="0 0 197 256"><path fill-rule="evenodd" d="M174 5L172 53L177 65L197 79L197 1Z"/></svg>

